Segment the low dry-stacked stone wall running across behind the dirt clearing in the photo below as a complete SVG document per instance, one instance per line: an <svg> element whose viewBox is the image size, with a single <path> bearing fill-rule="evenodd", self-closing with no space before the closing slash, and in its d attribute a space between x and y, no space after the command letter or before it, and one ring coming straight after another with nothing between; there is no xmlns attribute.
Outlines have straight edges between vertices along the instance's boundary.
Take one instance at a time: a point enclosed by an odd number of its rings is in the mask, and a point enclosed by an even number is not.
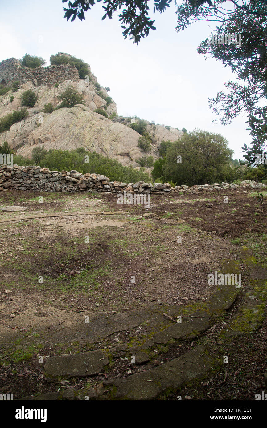
<svg viewBox="0 0 267 428"><path fill-rule="evenodd" d="M266 184L256 183L256 181L242 181L241 186L263 189ZM123 183L121 181L110 181L108 177L101 174L82 174L75 169L72 171L50 171L48 168L40 166L0 166L0 191L4 189L17 190L39 190L45 192L84 192L94 191L102 193L154 193L162 194L168 192L179 193L199 193L200 191L237 190L238 184L214 183L200 186L175 186L169 183L146 183L137 181L136 183Z"/></svg>

